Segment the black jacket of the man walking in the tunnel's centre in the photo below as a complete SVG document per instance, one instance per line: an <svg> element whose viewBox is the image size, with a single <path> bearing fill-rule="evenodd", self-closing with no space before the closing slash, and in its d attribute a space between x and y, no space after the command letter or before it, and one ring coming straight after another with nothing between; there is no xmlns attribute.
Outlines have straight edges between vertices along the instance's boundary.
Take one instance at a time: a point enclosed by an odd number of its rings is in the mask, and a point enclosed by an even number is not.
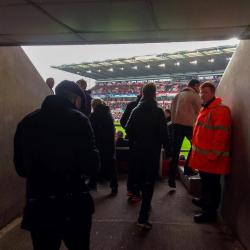
<svg viewBox="0 0 250 250"><path fill-rule="evenodd" d="M137 152L158 151L163 145L167 157L172 156L165 115L154 99L146 100L142 97L131 113L126 133Z"/></svg>

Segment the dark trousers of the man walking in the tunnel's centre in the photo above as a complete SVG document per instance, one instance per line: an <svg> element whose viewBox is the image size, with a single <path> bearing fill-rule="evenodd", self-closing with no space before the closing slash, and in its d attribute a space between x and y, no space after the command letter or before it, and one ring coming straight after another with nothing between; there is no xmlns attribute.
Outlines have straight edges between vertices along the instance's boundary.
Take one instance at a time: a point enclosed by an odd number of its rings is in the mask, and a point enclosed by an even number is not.
<svg viewBox="0 0 250 250"><path fill-rule="evenodd" d="M142 192L140 216L148 217L155 179L159 171L160 152L160 149L148 154L136 152L134 196L139 196L140 191Z"/></svg>

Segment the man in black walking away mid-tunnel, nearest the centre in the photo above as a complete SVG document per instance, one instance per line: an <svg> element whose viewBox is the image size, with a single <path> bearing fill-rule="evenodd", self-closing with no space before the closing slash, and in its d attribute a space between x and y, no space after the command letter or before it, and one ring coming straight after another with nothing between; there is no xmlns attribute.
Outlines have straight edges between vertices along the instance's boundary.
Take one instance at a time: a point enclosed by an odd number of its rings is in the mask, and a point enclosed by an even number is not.
<svg viewBox="0 0 250 250"><path fill-rule="evenodd" d="M147 83L142 91L143 97L128 120L126 132L135 147L134 195L139 194L140 190L142 191L142 205L137 225L151 228L152 223L148 221L148 215L151 211L151 200L155 178L159 170L162 145L169 160L172 152L165 115L155 100L156 85Z"/></svg>

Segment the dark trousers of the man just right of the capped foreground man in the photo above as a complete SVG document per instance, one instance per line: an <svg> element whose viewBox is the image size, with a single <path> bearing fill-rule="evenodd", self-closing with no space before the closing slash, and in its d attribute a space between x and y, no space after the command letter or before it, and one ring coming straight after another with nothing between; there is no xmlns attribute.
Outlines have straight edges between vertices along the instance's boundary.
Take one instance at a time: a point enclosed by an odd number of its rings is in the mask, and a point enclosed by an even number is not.
<svg viewBox="0 0 250 250"><path fill-rule="evenodd" d="M109 176L110 187L117 188L118 187L118 178L117 178L117 170L115 166L115 159L113 153L104 153L100 154L100 170L99 173L101 176L105 176L107 174ZM97 183L98 176L93 176L89 178L89 182L91 184Z"/></svg>

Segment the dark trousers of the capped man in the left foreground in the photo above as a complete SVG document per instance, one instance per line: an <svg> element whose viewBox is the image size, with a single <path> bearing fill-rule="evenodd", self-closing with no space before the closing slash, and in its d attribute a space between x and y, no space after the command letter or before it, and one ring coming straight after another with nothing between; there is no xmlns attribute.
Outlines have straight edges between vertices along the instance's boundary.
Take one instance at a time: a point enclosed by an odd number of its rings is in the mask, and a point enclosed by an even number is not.
<svg viewBox="0 0 250 250"><path fill-rule="evenodd" d="M34 250L59 250L62 240L69 250L89 250L89 238L92 217L88 218L84 228L75 234L71 233L49 233L46 231L31 231Z"/></svg>

